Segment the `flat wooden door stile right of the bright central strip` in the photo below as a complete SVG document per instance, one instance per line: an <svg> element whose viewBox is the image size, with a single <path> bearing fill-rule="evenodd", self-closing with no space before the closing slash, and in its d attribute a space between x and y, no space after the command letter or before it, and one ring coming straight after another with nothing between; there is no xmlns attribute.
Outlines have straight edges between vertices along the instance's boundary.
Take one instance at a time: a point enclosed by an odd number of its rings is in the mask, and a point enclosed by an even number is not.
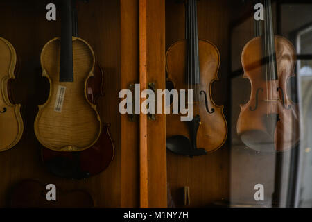
<svg viewBox="0 0 312 222"><path fill-rule="evenodd" d="M146 1L146 83L165 89L165 1ZM143 65L143 64L142 64ZM147 87L144 85L141 87ZM166 114L147 121L148 207L167 206ZM140 135L144 139L144 135Z"/></svg>

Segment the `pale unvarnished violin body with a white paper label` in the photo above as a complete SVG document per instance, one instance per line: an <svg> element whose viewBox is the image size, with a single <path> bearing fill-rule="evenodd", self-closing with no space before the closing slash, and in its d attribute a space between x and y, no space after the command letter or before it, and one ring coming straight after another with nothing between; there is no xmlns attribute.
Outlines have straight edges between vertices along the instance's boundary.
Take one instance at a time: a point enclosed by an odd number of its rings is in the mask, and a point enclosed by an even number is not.
<svg viewBox="0 0 312 222"><path fill-rule="evenodd" d="M96 105L87 99L87 81L93 76L94 52L78 37L72 37L73 82L60 82L60 38L48 42L41 53L43 76L49 79L49 99L40 105L35 134L54 151L83 151L101 135Z"/></svg>

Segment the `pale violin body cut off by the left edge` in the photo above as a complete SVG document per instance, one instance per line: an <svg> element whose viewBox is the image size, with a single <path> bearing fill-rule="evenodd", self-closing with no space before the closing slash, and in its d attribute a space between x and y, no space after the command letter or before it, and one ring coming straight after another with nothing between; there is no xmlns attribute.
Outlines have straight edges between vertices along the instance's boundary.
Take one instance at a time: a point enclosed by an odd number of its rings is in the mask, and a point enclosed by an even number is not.
<svg viewBox="0 0 312 222"><path fill-rule="evenodd" d="M0 37L0 151L15 146L21 139L24 124L19 104L12 104L10 80L15 79L17 55L12 44Z"/></svg>

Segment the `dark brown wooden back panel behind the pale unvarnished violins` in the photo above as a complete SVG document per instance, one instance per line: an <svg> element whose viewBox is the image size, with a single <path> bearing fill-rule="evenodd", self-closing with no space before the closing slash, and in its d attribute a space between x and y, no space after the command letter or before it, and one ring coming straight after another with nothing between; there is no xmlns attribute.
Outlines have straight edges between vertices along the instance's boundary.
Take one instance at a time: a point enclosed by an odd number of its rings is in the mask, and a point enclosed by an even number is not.
<svg viewBox="0 0 312 222"><path fill-rule="evenodd" d="M21 72L12 83L12 89L14 101L21 103L26 126L24 136L15 148L0 153L0 207L8 207L11 187L24 178L38 178L63 190L87 189L94 196L96 207L120 207L122 182L121 122L118 112L118 93L121 89L119 1L78 1L79 35L92 46L96 52L96 61L105 72L105 96L98 99L98 112L101 119L111 123L110 132L116 149L110 167L87 180L67 180L46 171L40 159L41 146L33 130L37 106L44 103L49 95L49 81L41 78L40 52L46 42L55 35L60 35L60 18L57 17L57 21L53 22L45 19L48 3L57 1L0 1L0 36L15 46L21 61ZM22 37L17 35L17 31L23 33ZM130 168L128 170L132 171ZM123 185L127 186L127 182Z"/></svg>

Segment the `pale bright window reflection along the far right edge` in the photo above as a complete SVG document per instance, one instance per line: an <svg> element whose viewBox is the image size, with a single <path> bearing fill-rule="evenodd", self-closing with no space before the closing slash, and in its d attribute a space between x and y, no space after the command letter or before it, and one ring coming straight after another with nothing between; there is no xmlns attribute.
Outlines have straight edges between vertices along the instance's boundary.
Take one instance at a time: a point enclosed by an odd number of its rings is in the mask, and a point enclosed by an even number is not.
<svg viewBox="0 0 312 222"><path fill-rule="evenodd" d="M312 26L297 34L297 53L309 55L312 52ZM312 60L298 60L300 75L300 108L302 114L302 143L300 144L300 189L299 207L312 207Z"/></svg>

